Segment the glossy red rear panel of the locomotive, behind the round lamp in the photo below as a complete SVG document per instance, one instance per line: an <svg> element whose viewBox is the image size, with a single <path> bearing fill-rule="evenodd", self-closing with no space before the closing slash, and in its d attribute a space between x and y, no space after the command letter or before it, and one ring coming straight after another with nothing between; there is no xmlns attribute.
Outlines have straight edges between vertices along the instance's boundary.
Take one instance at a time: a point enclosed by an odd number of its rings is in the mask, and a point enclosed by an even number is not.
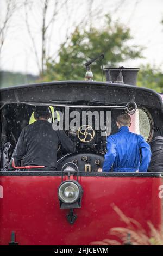
<svg viewBox="0 0 163 256"><path fill-rule="evenodd" d="M11 231L19 245L88 245L106 239L110 228L125 226L113 203L147 232L148 220L156 228L161 225L161 178L79 176L84 194L73 225L59 207L60 182L60 176L0 177L1 245L8 245Z"/></svg>

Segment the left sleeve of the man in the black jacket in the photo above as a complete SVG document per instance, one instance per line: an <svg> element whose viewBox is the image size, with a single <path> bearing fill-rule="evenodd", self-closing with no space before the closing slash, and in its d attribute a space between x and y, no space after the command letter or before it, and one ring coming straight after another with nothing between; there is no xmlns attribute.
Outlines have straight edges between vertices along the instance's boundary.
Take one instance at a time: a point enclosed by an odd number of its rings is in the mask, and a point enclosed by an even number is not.
<svg viewBox="0 0 163 256"><path fill-rule="evenodd" d="M9 167L8 169L13 169L12 168L12 158L15 160L15 165L20 166L21 165L21 159L22 157L26 154L26 142L24 138L24 129L22 130L20 137L18 138L18 142L16 144L16 147L14 149L14 152L12 154L11 160L9 162Z"/></svg>

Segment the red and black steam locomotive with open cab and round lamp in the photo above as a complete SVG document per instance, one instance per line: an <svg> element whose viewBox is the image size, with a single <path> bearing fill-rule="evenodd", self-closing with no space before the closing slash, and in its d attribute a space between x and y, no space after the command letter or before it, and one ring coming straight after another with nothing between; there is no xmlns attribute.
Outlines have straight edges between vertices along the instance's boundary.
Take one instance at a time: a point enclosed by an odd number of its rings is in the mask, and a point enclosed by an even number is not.
<svg viewBox="0 0 163 256"><path fill-rule="evenodd" d="M87 69L87 81L0 90L0 245L89 245L101 241L109 237L112 227L124 225L112 205L139 222L147 234L147 221L162 231L161 172L97 170L103 166L106 137L117 132L119 114L129 113L130 130L141 133L148 143L163 136L163 95L136 86L138 69L106 68L105 72L106 82L92 81ZM55 172L23 166L23 159L21 166L15 166L13 159L14 170L9 170L18 137L32 122L38 105L49 106L49 121L62 124L68 136L78 115L76 153L66 154L59 147Z"/></svg>

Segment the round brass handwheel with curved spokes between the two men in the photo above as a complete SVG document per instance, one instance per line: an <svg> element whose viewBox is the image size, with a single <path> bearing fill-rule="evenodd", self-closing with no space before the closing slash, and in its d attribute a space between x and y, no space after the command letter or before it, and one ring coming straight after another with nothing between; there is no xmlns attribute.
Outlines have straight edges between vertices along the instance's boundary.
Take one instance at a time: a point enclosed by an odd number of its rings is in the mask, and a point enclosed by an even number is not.
<svg viewBox="0 0 163 256"><path fill-rule="evenodd" d="M89 132L90 130L90 132ZM82 125L78 129L78 138L82 142L90 142L95 137L95 131L90 125Z"/></svg>

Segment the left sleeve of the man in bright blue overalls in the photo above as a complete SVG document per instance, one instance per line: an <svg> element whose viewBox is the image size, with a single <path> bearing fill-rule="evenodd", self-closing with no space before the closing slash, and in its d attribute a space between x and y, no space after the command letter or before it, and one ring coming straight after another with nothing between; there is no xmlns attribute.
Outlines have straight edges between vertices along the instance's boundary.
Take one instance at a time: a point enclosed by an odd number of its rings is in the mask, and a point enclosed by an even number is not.
<svg viewBox="0 0 163 256"><path fill-rule="evenodd" d="M111 136L107 139L107 153L105 154L105 160L103 165L103 172L109 172L112 164L114 163L116 153L116 144Z"/></svg>

